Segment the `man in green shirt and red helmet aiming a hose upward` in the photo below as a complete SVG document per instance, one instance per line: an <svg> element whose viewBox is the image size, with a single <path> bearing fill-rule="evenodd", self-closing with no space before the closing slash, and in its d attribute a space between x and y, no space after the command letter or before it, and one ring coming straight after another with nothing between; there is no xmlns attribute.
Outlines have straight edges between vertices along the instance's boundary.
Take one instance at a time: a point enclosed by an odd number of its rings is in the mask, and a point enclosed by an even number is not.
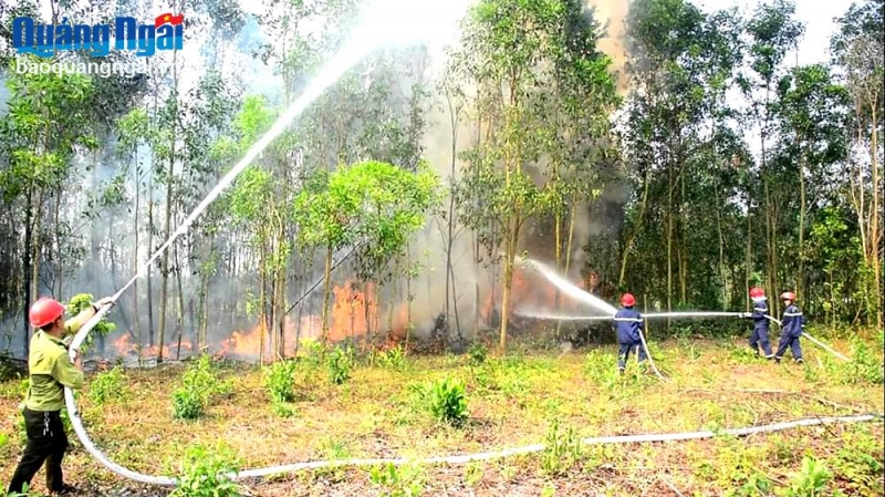
<svg viewBox="0 0 885 497"><path fill-rule="evenodd" d="M67 494L76 488L64 483L62 458L67 448L67 435L62 425L61 410L64 407L64 386L83 386L83 359L77 355L74 362L67 355L67 345L62 336L76 333L98 308L113 304L104 298L92 304L73 319L64 321L64 306L43 297L31 307L31 325L37 332L31 338L31 353L28 356L28 372L31 386L24 401L24 428L28 445L21 456L19 467L12 475L7 494L24 494L25 484L30 487L43 462L46 463L46 488L53 494Z"/></svg>

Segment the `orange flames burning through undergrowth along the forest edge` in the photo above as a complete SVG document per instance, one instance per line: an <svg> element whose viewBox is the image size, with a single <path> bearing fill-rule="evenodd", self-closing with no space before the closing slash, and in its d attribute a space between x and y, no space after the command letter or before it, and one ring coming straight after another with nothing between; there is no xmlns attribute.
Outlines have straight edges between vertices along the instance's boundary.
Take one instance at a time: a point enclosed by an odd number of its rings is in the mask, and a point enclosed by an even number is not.
<svg viewBox="0 0 885 497"><path fill-rule="evenodd" d="M585 287L582 281L574 283ZM480 282L473 289L466 289L464 293L465 301L473 300L479 306L461 303L460 319L456 321L452 317L447 318L445 306L438 303L445 298L435 297L433 288L428 288L426 299L404 298L392 306L386 303L389 298L383 287L347 280L332 289L326 338L330 343L350 341L379 349L389 349L406 342L410 346L459 349L455 342L462 345L464 340L472 340L477 332L493 333L500 325L500 284ZM302 309L293 309L284 317L282 333L272 333L273 330L266 320L254 319L256 324L248 329L238 329L221 335L208 333L210 338L202 350L196 345L197 340L191 333L176 333L163 345L163 358L179 360L208 352L220 358L257 361L261 356L272 358L273 351L279 350L284 351L285 356L293 356L304 341L322 340L323 336L321 291L315 291L311 297L315 299L305 299ZM509 332L513 334L524 334L544 325L543 322L522 317L520 312L570 312L580 311L583 306L564 293L558 293L556 288L540 273L519 266L514 268L510 303ZM277 343L280 335L282 346ZM139 346L136 334L131 330L111 336L108 343L112 346L106 350L104 358L118 359L124 363L137 362L139 359L142 362L150 361L160 352L160 346L156 344Z"/></svg>

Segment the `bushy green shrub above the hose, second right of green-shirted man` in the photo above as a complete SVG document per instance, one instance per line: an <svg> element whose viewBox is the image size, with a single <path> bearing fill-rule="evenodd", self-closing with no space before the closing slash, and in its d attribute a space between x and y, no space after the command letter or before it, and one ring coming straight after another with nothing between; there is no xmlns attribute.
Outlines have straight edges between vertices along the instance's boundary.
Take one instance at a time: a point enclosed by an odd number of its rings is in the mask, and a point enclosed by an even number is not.
<svg viewBox="0 0 885 497"><path fill-rule="evenodd" d="M230 381L221 381L214 371L209 356L202 354L188 364L181 376L181 386L173 392L173 417L197 420L202 416L211 401L232 390Z"/></svg>

